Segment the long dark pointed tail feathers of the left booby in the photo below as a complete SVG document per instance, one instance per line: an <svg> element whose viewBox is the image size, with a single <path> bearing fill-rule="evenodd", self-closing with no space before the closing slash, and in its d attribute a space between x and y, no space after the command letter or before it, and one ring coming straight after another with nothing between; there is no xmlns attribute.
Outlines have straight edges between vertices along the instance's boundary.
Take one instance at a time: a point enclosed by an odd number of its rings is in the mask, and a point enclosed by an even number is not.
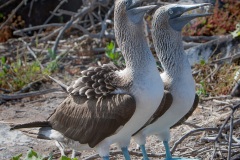
<svg viewBox="0 0 240 160"><path fill-rule="evenodd" d="M51 127L51 125L48 121L35 121L35 122L11 125L10 130L21 129L21 128L34 128L34 127Z"/></svg>

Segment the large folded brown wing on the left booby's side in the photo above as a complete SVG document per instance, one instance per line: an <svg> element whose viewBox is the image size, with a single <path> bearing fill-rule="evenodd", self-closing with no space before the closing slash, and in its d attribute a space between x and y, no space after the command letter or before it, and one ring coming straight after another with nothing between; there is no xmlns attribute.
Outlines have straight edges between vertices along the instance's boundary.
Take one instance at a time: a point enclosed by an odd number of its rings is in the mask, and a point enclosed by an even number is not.
<svg viewBox="0 0 240 160"><path fill-rule="evenodd" d="M130 95L108 95L87 99L79 95L66 98L48 121L64 136L94 147L113 135L132 117L136 109Z"/></svg>

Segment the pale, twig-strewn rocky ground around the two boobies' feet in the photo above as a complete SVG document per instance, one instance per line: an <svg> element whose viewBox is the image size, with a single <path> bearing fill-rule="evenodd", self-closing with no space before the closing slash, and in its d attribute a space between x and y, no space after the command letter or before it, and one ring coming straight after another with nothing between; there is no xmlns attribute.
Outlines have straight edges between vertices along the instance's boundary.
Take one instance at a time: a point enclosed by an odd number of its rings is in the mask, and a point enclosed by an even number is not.
<svg viewBox="0 0 240 160"><path fill-rule="evenodd" d="M20 131L10 131L10 127L7 123L21 123L31 120L44 120L66 96L67 95L63 92L55 92L35 98L25 98L22 100L9 101L2 104L0 106L0 159L10 159L12 156L20 153L23 153L25 156L26 152L31 148L45 156L49 155L50 152L59 155L59 151L55 147L54 142L30 138L28 136L25 136ZM171 130L172 139L170 145L173 146L174 142L176 142L179 138L191 130L200 127L217 128L221 126L226 117L231 113L231 110L229 108L222 108L232 104L237 104L239 102L240 99L230 97L216 97L210 100L202 100L199 103L198 108L194 114L187 120L186 124L183 124ZM235 113L235 121L239 121L239 113L240 111L237 111ZM227 136L228 131L224 131L223 133L223 135ZM237 127L237 125L234 127L233 134L234 137L238 139L238 142L234 141L235 146L232 150L232 156L240 154L240 129ZM210 159L214 151L214 143L206 142L206 138L214 137L216 135L217 132L209 132L207 130L191 134L183 142L181 142L179 146L177 146L174 155ZM224 139L221 139L221 143L222 144L219 145L219 148L217 148L216 156L214 159L226 159L228 145ZM146 146L151 159L163 158L163 145L159 140L157 140L155 136L148 137ZM136 144L134 142L131 143L130 150L133 159L142 158L139 155L139 151L136 150ZM112 152L112 159L123 159L121 154L119 154L117 151L117 147L113 146ZM157 157L159 154L160 157ZM84 151L79 158L98 159L99 157L93 151Z"/></svg>

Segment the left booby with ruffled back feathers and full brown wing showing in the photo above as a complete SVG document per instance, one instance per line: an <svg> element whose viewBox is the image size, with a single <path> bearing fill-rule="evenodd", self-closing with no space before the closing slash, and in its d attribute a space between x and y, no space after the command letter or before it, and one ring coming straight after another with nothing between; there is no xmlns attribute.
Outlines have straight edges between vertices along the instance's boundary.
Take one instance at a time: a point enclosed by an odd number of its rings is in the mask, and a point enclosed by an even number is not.
<svg viewBox="0 0 240 160"><path fill-rule="evenodd" d="M70 95L43 122L12 129L41 127L38 138L56 140L75 150L95 148L109 159L117 143L125 159L131 136L153 115L163 97L163 82L143 31L143 16L154 5L116 0L114 29L126 68L89 68L67 91Z"/></svg>

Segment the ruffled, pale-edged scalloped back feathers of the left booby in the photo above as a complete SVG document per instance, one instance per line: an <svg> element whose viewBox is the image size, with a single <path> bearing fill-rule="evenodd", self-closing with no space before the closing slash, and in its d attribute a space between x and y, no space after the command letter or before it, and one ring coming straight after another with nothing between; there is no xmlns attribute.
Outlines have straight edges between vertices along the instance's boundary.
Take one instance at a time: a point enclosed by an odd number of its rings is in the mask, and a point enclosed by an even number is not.
<svg viewBox="0 0 240 160"><path fill-rule="evenodd" d="M118 67L112 63L101 67L90 67L81 72L82 77L74 81L67 88L67 91L71 95L81 95L87 98L107 95L122 86L122 84L119 84L119 82L122 82L121 77L118 77L115 73L117 70Z"/></svg>

